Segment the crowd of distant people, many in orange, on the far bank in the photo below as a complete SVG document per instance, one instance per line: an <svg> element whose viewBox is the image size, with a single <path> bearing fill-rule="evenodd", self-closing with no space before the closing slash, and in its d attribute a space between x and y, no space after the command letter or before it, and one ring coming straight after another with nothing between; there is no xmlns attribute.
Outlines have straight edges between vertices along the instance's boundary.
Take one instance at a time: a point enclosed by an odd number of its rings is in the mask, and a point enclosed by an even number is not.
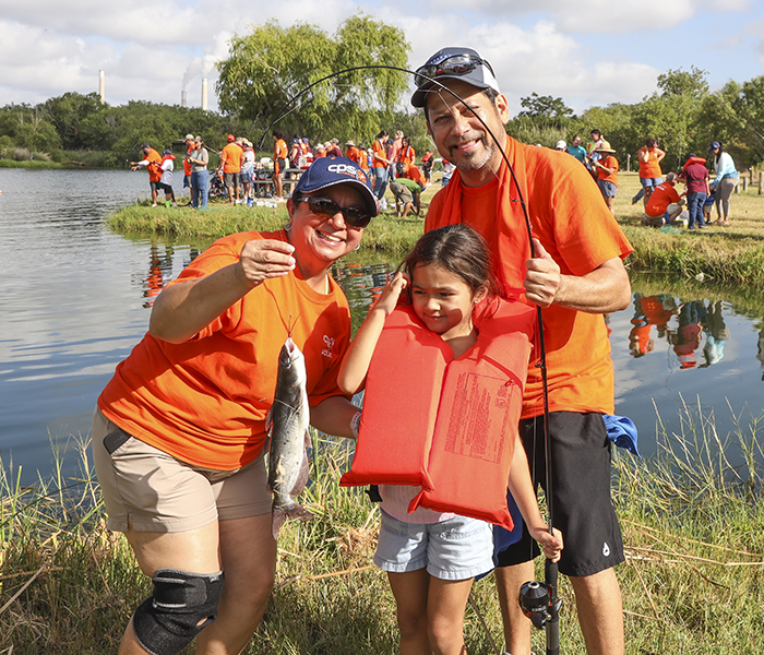
<svg viewBox="0 0 764 655"><path fill-rule="evenodd" d="M308 138L288 138L278 129L273 130L272 135L273 157L266 155L258 160L252 142L242 136L228 134L226 145L218 152L206 146L201 136L187 134L183 156L183 188L188 188L190 194L187 206L206 207L210 190L215 188L230 204L252 205L259 195L284 202L285 181L288 190L314 160L344 156L369 175L382 211L387 210L385 192L390 189L397 216L404 217L409 212L421 215L421 192L432 183L434 153L426 150L417 164L417 153L410 138L402 130L396 130L392 136L386 130L380 130L371 146L348 139L344 150L338 139L311 146ZM144 143L141 150L143 159L130 164L133 170L146 168L148 171L152 206L159 206L159 192L164 193L166 206L177 206L172 190L176 155L170 150L159 155L148 143ZM214 170L207 168L210 150L219 155L219 164ZM620 166L616 151L601 131L593 129L586 145L582 136L575 134L570 144L559 140L554 150L571 155L587 168L605 203L613 212ZM681 222L687 223L689 229L729 225L730 196L740 177L732 157L725 152L720 142L714 141L708 154L713 155L711 162L690 154L681 170L664 176L661 163L666 160L666 152L654 136L645 139L644 146L636 153L641 188L632 198L632 204L643 202L642 225L661 227ZM453 166L445 159L440 162L443 170L441 183L445 186ZM713 181L708 175L712 164L716 172ZM685 187L682 193L675 189L680 182ZM713 206L716 206L717 219L712 222ZM687 218L682 218L684 211Z"/></svg>

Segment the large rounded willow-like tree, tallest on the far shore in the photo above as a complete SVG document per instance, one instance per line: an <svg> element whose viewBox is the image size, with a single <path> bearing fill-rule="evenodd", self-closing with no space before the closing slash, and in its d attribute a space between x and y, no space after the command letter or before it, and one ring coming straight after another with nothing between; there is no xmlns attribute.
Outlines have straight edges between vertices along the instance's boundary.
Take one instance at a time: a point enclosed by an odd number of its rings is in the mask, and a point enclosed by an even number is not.
<svg viewBox="0 0 764 655"><path fill-rule="evenodd" d="M276 21L230 40L230 56L218 63L220 108L311 139L371 141L390 121L407 88L406 74L389 69L354 70L312 86L331 73L386 64L405 68L410 46L404 32L363 14L350 16L329 35L315 25ZM266 135L266 138L270 135ZM270 143L270 141L266 141Z"/></svg>

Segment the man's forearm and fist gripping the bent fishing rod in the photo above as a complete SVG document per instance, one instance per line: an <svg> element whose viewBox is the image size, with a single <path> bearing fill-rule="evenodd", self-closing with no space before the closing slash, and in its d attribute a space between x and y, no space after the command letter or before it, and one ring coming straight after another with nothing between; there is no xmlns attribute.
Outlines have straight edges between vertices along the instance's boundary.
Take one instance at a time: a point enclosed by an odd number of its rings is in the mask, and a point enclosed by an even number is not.
<svg viewBox="0 0 764 655"><path fill-rule="evenodd" d="M528 260L525 297L539 307L559 305L587 313L626 309L631 302L629 274L621 258L602 262L586 275L562 275L540 241L534 239L536 257Z"/></svg>

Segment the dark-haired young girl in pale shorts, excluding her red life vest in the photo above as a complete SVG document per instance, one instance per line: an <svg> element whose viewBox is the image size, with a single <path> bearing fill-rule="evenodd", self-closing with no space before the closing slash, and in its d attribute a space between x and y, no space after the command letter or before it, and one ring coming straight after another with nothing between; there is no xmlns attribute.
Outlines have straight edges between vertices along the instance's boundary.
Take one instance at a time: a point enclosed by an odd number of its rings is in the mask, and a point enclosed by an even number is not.
<svg viewBox="0 0 764 655"><path fill-rule="evenodd" d="M475 230L450 225L426 234L403 269L405 273L398 272L385 285L343 361L338 384L346 393L365 388L385 319L406 288L416 317L440 335L455 358L478 340L473 314L491 294L493 283L487 247ZM422 384L428 382L421 380ZM510 490L530 535L541 544L545 555L557 561L562 537L559 531L550 535L541 519L518 438L516 444ZM409 501L420 490L380 485L382 526L374 562L387 572L395 597L402 655L462 654L464 610L473 579L493 568L492 528L489 523L454 513L423 508L409 513Z"/></svg>

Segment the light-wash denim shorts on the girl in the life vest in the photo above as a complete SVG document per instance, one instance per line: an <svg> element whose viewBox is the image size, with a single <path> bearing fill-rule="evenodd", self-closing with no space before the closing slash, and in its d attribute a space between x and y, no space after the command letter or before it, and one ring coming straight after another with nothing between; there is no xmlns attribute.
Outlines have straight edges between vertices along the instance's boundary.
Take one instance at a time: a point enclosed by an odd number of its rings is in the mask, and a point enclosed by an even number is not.
<svg viewBox="0 0 764 655"><path fill-rule="evenodd" d="M374 563L390 573L427 568L440 580L467 580L493 569L493 527L455 516L440 523L404 523L384 510Z"/></svg>

